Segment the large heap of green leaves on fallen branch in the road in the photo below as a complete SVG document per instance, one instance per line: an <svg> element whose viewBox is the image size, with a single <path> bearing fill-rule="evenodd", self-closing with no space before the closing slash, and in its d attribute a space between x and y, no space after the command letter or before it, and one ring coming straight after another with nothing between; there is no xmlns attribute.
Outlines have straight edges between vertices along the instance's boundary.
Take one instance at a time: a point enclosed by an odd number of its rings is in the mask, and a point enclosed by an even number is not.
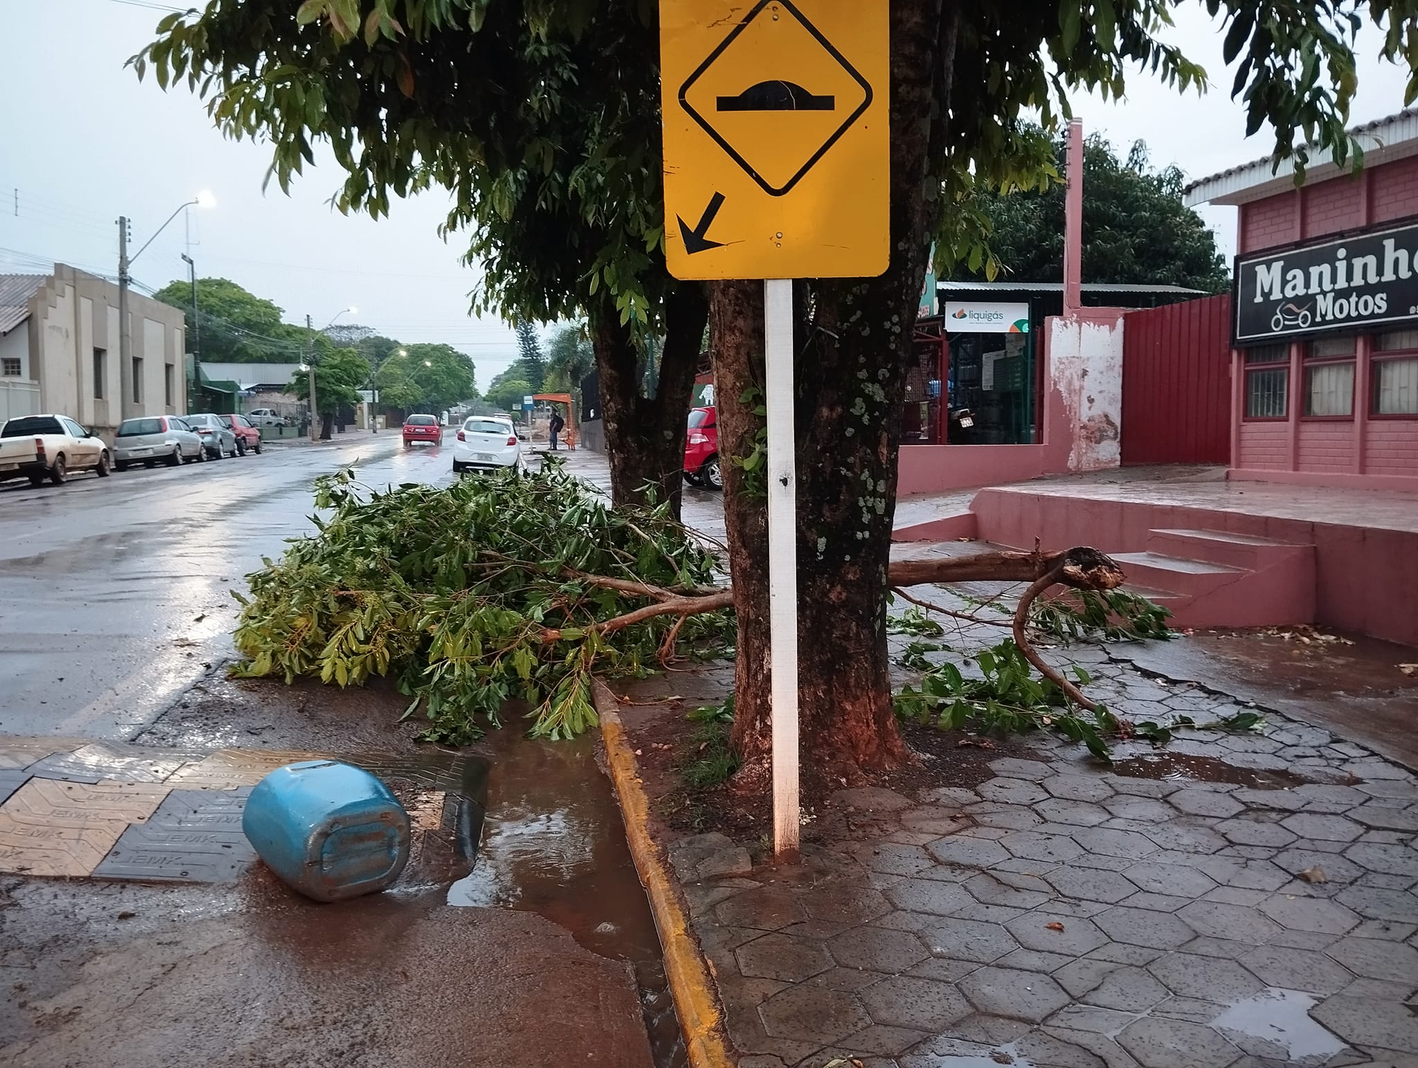
<svg viewBox="0 0 1418 1068"><path fill-rule="evenodd" d="M715 560L668 509L613 511L556 462L389 492L343 471L316 504L330 509L318 533L237 594L234 674L393 678L428 740L475 739L510 701L530 733L571 738L597 722L593 674L638 675L681 644L732 640L730 613L676 610L702 600Z"/></svg>

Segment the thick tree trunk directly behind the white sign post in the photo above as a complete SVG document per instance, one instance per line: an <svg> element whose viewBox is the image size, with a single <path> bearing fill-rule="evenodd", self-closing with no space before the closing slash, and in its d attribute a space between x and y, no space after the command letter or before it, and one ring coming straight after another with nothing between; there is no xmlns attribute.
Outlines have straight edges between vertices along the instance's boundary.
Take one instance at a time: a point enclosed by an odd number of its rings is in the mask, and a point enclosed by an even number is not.
<svg viewBox="0 0 1418 1068"><path fill-rule="evenodd" d="M814 777L831 786L910 759L892 708L886 567L912 323L929 248L927 142L937 79L949 81L953 58L942 55L940 0L892 3L891 47L891 267L879 278L795 287L794 306L811 309L794 339L798 719L808 790ZM763 287L716 284L710 306L720 452L743 458L763 427L753 406L740 404L749 387L763 384ZM735 464L720 469L739 617L733 743L744 760L740 787L757 790L771 739L767 521L753 475L746 486Z"/></svg>

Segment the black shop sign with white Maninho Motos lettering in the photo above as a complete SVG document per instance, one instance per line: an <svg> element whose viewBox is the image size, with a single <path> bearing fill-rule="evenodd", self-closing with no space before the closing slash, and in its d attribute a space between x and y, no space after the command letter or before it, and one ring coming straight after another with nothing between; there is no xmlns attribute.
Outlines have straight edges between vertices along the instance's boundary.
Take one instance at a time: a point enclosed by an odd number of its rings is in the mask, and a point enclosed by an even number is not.
<svg viewBox="0 0 1418 1068"><path fill-rule="evenodd" d="M1418 223L1236 260L1236 345L1411 321Z"/></svg>

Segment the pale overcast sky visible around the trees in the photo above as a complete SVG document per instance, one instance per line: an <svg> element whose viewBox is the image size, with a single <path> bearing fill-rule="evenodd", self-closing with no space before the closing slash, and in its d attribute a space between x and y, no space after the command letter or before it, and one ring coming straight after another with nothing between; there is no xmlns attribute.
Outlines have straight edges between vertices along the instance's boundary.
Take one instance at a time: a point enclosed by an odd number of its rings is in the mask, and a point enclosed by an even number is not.
<svg viewBox="0 0 1418 1068"><path fill-rule="evenodd" d="M406 342L450 342L474 357L484 387L515 359L505 323L467 315L476 278L459 267L457 238L445 244L435 233L442 197L396 201L377 223L345 217L326 203L342 177L333 163L309 169L289 197L274 184L262 193L264 146L224 140L184 87L164 94L125 69L173 9L156 0L0 0L0 10L10 45L0 64L0 271L45 271L58 260L115 274L119 214L133 220L136 251L173 208L210 190L217 206L191 208L190 233L179 217L133 264L139 282L186 278L180 255L190 237L200 275L240 282L291 322L309 313L320 326L354 305L357 313L340 322ZM1173 40L1219 88L1180 98L1136 75L1122 104L1075 101L1085 128L1123 149L1143 139L1153 165L1176 163L1193 179L1266 155L1266 132L1242 139L1221 31L1200 3L1177 11ZM1404 75L1381 64L1375 47L1375 33L1361 35L1356 123L1402 105ZM1234 210L1204 214L1229 257Z"/></svg>

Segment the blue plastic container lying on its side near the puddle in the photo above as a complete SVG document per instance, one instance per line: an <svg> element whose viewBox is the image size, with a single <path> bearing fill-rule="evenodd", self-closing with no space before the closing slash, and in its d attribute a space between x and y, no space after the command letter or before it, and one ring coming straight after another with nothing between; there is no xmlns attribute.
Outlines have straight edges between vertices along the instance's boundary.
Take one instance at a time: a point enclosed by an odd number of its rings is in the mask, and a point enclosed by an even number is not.
<svg viewBox="0 0 1418 1068"><path fill-rule="evenodd" d="M408 813L369 772L335 760L274 770L247 799L241 830L277 875L316 901L381 891L408 862Z"/></svg>

